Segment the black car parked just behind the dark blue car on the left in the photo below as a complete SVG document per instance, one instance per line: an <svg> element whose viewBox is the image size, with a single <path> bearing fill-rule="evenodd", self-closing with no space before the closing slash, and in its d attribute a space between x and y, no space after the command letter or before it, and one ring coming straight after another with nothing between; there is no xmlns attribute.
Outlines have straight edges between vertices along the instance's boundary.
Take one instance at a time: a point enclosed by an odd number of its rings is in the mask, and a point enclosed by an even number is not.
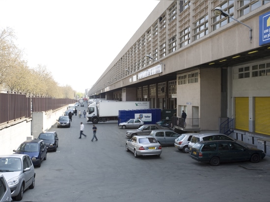
<svg viewBox="0 0 270 202"><path fill-rule="evenodd" d="M58 135L55 131L46 131L39 134L37 139L42 139L48 151L56 151L58 147Z"/></svg>

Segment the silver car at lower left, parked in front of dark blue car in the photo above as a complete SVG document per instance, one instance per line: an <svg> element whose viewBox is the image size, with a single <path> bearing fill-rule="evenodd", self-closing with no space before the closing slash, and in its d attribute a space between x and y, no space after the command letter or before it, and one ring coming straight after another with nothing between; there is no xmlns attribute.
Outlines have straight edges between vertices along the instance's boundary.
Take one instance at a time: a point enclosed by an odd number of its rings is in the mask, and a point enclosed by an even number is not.
<svg viewBox="0 0 270 202"><path fill-rule="evenodd" d="M35 186L35 169L26 154L0 155L0 174L3 174L16 201L23 199L24 191Z"/></svg>

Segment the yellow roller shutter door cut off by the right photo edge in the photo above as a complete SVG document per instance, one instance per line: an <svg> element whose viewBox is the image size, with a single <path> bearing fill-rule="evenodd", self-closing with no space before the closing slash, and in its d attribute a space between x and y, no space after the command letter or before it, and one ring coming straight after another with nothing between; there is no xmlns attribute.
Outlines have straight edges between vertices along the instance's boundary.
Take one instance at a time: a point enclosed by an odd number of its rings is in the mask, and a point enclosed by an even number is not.
<svg viewBox="0 0 270 202"><path fill-rule="evenodd" d="M255 98L255 132L270 135L270 97Z"/></svg>

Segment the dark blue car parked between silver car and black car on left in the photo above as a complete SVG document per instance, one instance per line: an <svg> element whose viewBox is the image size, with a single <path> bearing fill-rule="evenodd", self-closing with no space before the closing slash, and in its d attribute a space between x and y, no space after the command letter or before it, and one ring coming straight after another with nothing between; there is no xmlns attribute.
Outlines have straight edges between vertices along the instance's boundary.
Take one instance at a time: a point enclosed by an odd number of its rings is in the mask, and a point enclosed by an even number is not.
<svg viewBox="0 0 270 202"><path fill-rule="evenodd" d="M15 153L27 154L34 166L40 167L41 162L47 159L47 147L43 140L27 140L23 142Z"/></svg>

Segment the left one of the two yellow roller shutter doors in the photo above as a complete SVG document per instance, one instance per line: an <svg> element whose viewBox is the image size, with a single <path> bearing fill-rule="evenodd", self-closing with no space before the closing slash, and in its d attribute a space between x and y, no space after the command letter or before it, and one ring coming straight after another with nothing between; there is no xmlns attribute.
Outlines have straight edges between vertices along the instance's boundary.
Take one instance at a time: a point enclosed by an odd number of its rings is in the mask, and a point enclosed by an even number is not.
<svg viewBox="0 0 270 202"><path fill-rule="evenodd" d="M235 128L248 131L248 98L235 98Z"/></svg>

